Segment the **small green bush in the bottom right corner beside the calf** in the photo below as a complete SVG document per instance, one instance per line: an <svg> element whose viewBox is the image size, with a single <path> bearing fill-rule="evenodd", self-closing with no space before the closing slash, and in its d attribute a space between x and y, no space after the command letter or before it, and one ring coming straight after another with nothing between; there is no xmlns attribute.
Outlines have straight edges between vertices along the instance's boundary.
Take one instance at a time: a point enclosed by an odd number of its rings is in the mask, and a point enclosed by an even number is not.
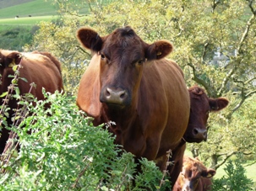
<svg viewBox="0 0 256 191"><path fill-rule="evenodd" d="M214 191L229 191L229 190L255 190L253 189L253 181L245 175L245 169L242 167L242 162L237 159L228 161L224 168L226 176L214 179Z"/></svg>

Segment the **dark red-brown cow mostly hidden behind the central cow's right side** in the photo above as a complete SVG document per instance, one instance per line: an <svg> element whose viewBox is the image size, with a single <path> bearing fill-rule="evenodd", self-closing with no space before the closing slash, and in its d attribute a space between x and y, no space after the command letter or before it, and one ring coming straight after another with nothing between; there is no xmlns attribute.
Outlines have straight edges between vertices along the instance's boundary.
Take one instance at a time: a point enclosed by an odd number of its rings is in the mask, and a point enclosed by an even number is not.
<svg viewBox="0 0 256 191"><path fill-rule="evenodd" d="M226 108L229 101L226 98L209 98L203 88L193 86L188 89L190 97L190 115L188 127L180 145L172 151L172 162L168 168L172 172L171 181L175 183L182 170L182 157L186 149L186 142L201 142L207 139L207 119L210 112L217 112ZM163 167L162 167L163 168ZM173 185L172 185L173 186Z"/></svg>

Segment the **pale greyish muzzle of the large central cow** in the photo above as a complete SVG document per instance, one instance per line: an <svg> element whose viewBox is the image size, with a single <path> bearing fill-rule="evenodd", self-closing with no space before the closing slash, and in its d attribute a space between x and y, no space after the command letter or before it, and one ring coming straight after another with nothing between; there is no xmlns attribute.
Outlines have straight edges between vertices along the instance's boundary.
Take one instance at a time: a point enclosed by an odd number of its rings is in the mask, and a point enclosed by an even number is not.
<svg viewBox="0 0 256 191"><path fill-rule="evenodd" d="M106 87L101 90L100 100L101 103L123 107L129 104L128 91L123 88Z"/></svg>

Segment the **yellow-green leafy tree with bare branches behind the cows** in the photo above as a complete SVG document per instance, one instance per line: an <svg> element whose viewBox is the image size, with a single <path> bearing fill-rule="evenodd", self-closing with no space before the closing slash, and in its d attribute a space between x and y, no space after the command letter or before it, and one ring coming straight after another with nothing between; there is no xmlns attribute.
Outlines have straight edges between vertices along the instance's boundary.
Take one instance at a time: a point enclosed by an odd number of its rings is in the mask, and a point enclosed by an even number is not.
<svg viewBox="0 0 256 191"><path fill-rule="evenodd" d="M59 22L41 24L32 48L50 50L62 59L68 91L73 91L84 72L70 63L90 59L90 54L77 43L75 31L86 25L105 35L117 27L131 25L149 43L160 39L172 42L175 50L171 58L182 67L188 86L197 83L212 98L230 99L228 109L211 115L207 143L191 145L203 161L211 159L212 167L217 168L237 152L255 153L251 144L255 142L255 121L245 108L252 106L249 103L256 93L255 1L52 2L60 8ZM90 13L81 14L80 10L86 7Z"/></svg>

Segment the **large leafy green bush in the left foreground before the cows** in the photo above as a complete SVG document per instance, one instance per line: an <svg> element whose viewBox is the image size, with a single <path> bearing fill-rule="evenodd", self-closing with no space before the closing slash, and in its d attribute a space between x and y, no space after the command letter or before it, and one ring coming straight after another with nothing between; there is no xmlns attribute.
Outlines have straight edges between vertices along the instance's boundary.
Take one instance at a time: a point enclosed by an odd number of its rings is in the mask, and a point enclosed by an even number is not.
<svg viewBox="0 0 256 191"><path fill-rule="evenodd" d="M133 155L114 145L114 136L102 125L93 126L77 109L74 97L44 94L46 100L36 106L25 103L30 115L11 127L20 149L8 162L2 156L0 190L158 188L162 173L155 163L142 159L142 172L135 175ZM44 108L47 103L49 109Z"/></svg>

